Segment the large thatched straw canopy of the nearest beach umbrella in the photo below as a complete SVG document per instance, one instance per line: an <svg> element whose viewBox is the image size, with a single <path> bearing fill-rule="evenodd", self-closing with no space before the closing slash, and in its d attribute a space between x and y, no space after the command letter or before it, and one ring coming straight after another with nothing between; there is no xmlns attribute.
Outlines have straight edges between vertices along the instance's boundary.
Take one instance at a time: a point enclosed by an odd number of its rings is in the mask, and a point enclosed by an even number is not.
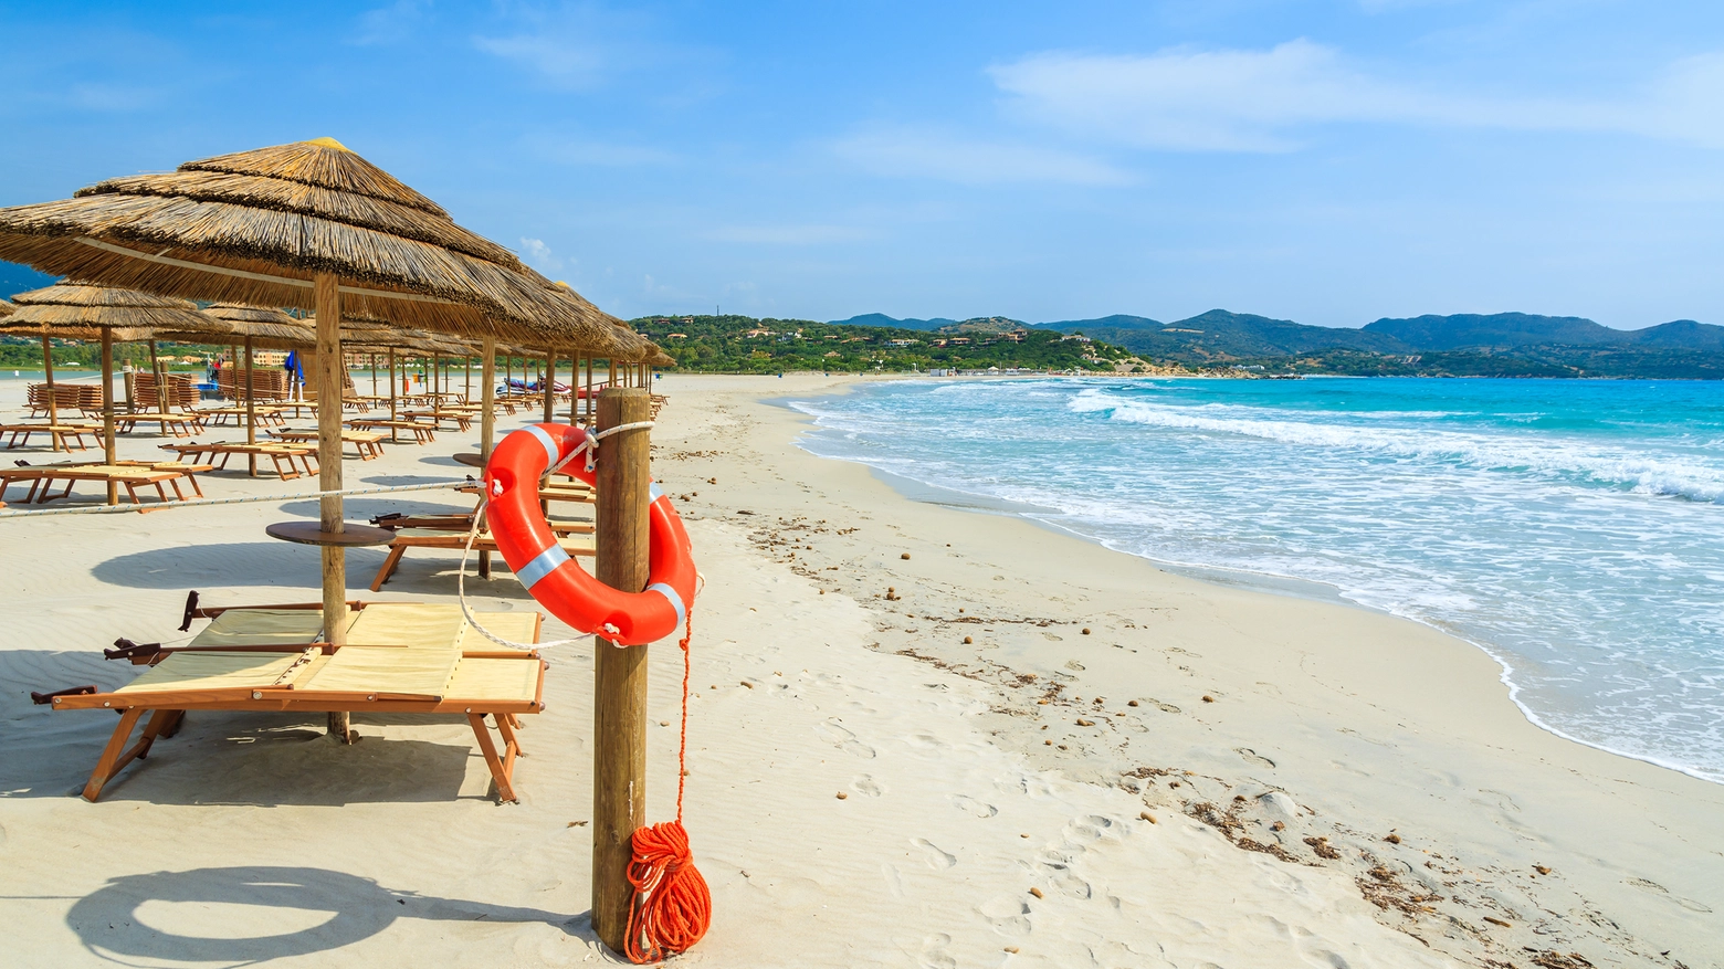
<svg viewBox="0 0 1724 969"><path fill-rule="evenodd" d="M0 209L0 259L186 298L343 309L393 324L564 347L603 345L612 317L340 143L319 138L114 178Z"/></svg>

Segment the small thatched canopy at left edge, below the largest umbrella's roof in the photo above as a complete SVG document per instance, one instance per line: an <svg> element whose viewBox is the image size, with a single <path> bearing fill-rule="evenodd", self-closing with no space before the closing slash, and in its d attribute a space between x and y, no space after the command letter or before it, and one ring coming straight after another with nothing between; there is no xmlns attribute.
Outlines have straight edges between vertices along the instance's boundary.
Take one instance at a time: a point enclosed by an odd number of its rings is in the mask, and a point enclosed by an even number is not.
<svg viewBox="0 0 1724 969"><path fill-rule="evenodd" d="M126 343L150 340L157 329L202 331L210 326L186 300L90 283L55 283L12 298L16 309L0 328L14 336L100 340L109 329L114 340Z"/></svg>

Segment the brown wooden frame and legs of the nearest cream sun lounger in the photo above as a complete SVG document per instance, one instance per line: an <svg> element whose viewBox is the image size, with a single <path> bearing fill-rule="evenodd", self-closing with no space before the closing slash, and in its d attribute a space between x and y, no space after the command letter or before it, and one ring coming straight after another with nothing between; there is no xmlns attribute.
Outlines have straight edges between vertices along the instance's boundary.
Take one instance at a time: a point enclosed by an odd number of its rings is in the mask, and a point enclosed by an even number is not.
<svg viewBox="0 0 1724 969"><path fill-rule="evenodd" d="M193 600L195 602L193 593ZM355 610L365 609L365 602L348 603ZM245 609L245 607L241 607ZM269 607L250 607L250 609L321 609L321 603L293 603L293 605L269 605ZM233 609L195 609L188 603L186 616L188 622L193 616L214 617L222 612L231 612ZM540 626L543 624L543 616L534 614L533 622L533 640L538 640ZM145 653L140 657L131 657L134 664L155 666L172 653L183 652L205 652L205 653L234 653L234 652L278 652L278 653L300 653L300 659L288 669L288 672L298 671L293 679L281 686L229 686L229 688L186 688L186 690L153 690L153 691L112 691L100 693L93 686L62 690L50 695L34 695L33 698L41 703L52 703L55 710L116 710L121 714L119 724L114 728L112 736L109 736L107 747L102 748L102 757L97 759L97 767L90 774L90 781L84 785L83 798L95 802L102 797L102 788L114 779L128 764L133 760L141 760L150 755L150 748L159 738L172 736L179 729L188 710L234 710L234 712L281 712L281 710L300 710L300 712L348 712L348 714L455 714L464 716L467 724L472 728L474 736L479 741L479 752L484 755L484 764L491 771L491 779L497 783L498 802L509 803L517 802L514 790L514 771L515 759L524 755L521 748L521 740L515 731L521 729L521 714L538 714L545 709L545 671L550 664L540 657L538 650L462 650L460 660L519 660L519 662L536 662L538 676L533 688L531 700L497 700L497 698L479 698L479 697L459 697L459 695L409 695L409 693L379 693L365 690L295 690L297 683L305 683L312 679L322 664L340 652L329 650L322 643L312 641L305 645L276 645L276 647L216 647L207 650L198 648L162 648L153 653ZM283 674L286 676L286 674ZM452 676L453 679L453 676ZM150 714L145 721L143 735L128 747L133 731L143 716ZM484 717L491 717L497 724L497 733L502 740L502 748L491 740L491 733L484 724Z"/></svg>

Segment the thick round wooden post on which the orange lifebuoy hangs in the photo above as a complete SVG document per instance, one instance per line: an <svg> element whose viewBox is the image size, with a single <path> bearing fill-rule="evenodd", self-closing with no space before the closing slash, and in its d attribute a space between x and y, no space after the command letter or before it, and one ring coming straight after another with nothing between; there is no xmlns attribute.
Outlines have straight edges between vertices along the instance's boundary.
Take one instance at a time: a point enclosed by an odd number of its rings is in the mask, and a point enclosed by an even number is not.
<svg viewBox="0 0 1724 969"><path fill-rule="evenodd" d="M598 397L598 429L645 421L646 395L609 388ZM598 450L593 562L598 581L624 591L646 586L650 495L645 429L605 438ZM646 822L646 647L595 638L593 693L593 931L624 952L629 928L631 838Z"/></svg>

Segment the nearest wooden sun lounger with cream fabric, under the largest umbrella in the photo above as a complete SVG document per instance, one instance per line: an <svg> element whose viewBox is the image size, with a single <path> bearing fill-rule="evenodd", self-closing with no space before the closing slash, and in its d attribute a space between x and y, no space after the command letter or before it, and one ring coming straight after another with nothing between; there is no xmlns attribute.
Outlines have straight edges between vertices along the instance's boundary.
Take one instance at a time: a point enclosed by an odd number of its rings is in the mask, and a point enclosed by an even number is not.
<svg viewBox="0 0 1724 969"><path fill-rule="evenodd" d="M95 802L121 769L148 757L159 738L172 736L186 710L460 716L479 741L498 800L517 800L517 717L545 709L550 664L538 650L491 643L467 624L459 605L372 603L362 605L348 626L348 643L329 653L315 643L321 612L298 610L286 621L283 612L224 610L193 643L221 626L212 640L228 648L160 650L148 671L110 693L86 688L38 698L55 710L121 714L84 785L84 800ZM522 643L538 641L543 619L538 612L478 617L493 633ZM491 740L486 716L497 724L502 748ZM128 747L140 721L143 735Z"/></svg>

